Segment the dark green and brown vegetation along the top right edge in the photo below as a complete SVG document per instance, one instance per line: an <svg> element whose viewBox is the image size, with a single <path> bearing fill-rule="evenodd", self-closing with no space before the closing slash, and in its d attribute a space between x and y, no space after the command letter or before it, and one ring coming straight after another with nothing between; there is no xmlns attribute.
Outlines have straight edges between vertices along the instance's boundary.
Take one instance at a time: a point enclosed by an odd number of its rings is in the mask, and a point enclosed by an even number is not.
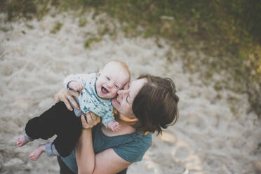
<svg viewBox="0 0 261 174"><path fill-rule="evenodd" d="M37 6L36 6L37 4ZM217 82L215 88L248 93L255 112L261 116L261 3L259 0L4 0L0 11L7 20L41 19L50 6L58 11L94 8L95 15L107 12L124 22L123 31L136 36L162 36L175 48L203 51L206 57L184 55L185 70L202 72L206 79L225 71L236 85ZM79 21L80 26L87 21ZM104 30L106 31L106 30ZM88 39L88 47L97 38ZM160 46L160 45L159 45ZM173 59L168 55L168 60ZM229 79L231 81L231 79Z"/></svg>

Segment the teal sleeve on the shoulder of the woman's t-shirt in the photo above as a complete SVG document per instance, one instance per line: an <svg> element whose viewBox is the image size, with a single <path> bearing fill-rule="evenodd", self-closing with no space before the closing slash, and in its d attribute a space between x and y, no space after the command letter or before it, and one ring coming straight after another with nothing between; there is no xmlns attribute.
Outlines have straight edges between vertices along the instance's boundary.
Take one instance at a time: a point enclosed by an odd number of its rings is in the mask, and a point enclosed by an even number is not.
<svg viewBox="0 0 261 174"><path fill-rule="evenodd" d="M137 140L114 147L114 152L128 162L141 161L145 152L152 146L152 133L139 136L139 138L135 138Z"/></svg>

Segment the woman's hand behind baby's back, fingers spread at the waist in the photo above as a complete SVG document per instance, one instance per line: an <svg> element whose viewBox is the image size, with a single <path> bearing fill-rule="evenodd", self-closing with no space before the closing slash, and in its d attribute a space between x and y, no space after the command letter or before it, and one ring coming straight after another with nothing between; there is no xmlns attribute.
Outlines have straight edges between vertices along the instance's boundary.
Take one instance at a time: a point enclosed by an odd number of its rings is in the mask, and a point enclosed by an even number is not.
<svg viewBox="0 0 261 174"><path fill-rule="evenodd" d="M76 91L69 91L65 88L62 88L58 93L55 94L53 100L54 102L59 102L62 101L65 103L66 107L72 111L72 107L70 105L69 102L72 103L72 105L74 105L74 107L76 107L77 109L79 109L79 105L77 104L77 102L74 100L74 98L72 96L75 96L76 98L79 97L79 93Z"/></svg>

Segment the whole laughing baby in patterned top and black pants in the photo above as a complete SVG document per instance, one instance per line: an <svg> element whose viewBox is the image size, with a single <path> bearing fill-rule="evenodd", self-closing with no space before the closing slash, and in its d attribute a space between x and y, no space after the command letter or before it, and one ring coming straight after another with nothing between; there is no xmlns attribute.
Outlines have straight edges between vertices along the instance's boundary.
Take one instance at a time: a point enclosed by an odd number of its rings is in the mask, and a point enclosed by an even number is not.
<svg viewBox="0 0 261 174"><path fill-rule="evenodd" d="M63 102L58 102L41 116L34 117L27 122L25 135L17 139L17 145L22 147L29 141L48 138L57 135L53 142L39 145L29 155L33 161L39 159L41 153L47 156L68 156L74 149L81 135L81 114L93 112L102 117L102 123L112 131L117 131L120 125L114 120L111 100L117 92L130 81L130 71L124 62L108 62L100 72L91 74L77 74L68 76L64 85L68 89L80 91L80 109L74 107L74 112L67 109Z"/></svg>

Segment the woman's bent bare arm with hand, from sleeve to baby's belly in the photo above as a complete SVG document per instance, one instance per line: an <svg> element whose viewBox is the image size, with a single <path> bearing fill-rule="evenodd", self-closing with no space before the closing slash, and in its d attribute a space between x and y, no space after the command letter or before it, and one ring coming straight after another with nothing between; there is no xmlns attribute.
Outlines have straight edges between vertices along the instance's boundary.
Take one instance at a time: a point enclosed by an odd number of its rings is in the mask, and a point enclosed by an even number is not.
<svg viewBox="0 0 261 174"><path fill-rule="evenodd" d="M96 123L97 118L100 119L100 117L87 116L87 121L88 123ZM88 123L83 116L81 121L83 128L86 128ZM130 162L118 156L113 149L106 149L95 155L91 128L83 129L79 142L76 145L76 161L79 174L117 173L131 165Z"/></svg>

